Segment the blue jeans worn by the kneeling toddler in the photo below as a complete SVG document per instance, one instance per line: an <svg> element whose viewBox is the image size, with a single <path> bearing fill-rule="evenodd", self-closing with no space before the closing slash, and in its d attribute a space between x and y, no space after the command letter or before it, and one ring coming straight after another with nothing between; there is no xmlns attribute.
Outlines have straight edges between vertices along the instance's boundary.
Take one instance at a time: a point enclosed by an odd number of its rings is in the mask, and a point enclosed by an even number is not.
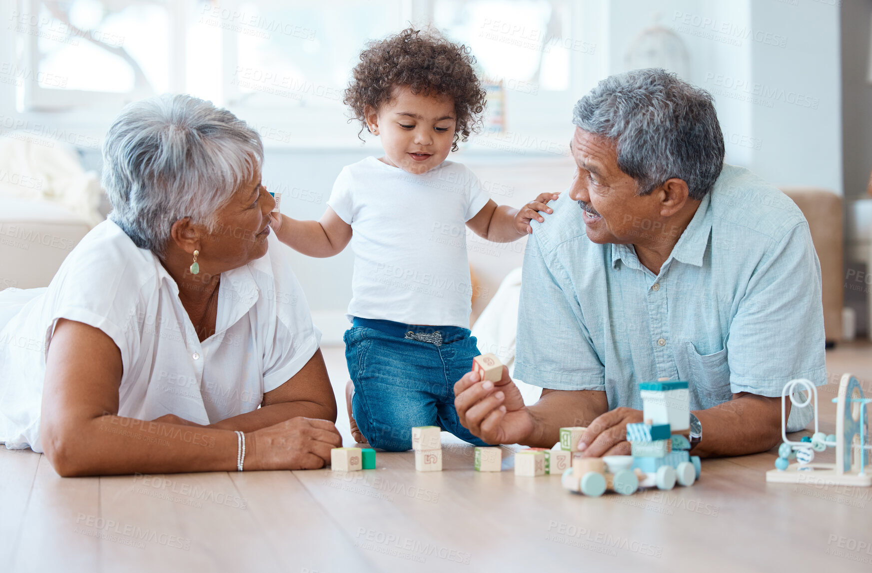
<svg viewBox="0 0 872 573"><path fill-rule="evenodd" d="M410 331L439 332L441 344L433 338L405 338ZM355 318L344 340L354 382L351 413L371 447L405 452L412 448L414 426L439 426L461 440L487 446L460 425L454 409L454 383L480 354L468 329Z"/></svg>

